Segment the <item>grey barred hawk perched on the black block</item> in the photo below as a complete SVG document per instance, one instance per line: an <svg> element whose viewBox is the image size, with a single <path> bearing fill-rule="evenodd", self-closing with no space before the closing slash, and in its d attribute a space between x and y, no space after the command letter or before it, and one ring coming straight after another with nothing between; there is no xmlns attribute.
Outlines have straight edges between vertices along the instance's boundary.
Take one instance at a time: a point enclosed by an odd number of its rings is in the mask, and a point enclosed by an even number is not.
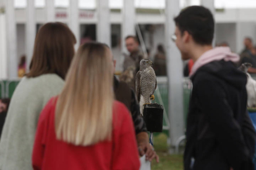
<svg viewBox="0 0 256 170"><path fill-rule="evenodd" d="M135 77L136 95L140 103L140 115L143 116L143 107L150 104L155 99L156 74L151 67L151 60L142 59L140 61L140 70Z"/></svg>

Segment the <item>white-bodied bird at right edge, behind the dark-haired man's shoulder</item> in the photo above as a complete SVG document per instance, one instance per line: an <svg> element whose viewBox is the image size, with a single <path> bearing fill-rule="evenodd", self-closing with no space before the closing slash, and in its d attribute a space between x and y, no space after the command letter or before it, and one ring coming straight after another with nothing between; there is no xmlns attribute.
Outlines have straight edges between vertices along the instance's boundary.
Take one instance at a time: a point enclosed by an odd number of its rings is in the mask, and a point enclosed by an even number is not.
<svg viewBox="0 0 256 170"><path fill-rule="evenodd" d="M256 81L252 79L249 73L247 73L248 68L252 67L250 63L243 63L239 70L243 71L247 75L247 106L248 107L256 107Z"/></svg>

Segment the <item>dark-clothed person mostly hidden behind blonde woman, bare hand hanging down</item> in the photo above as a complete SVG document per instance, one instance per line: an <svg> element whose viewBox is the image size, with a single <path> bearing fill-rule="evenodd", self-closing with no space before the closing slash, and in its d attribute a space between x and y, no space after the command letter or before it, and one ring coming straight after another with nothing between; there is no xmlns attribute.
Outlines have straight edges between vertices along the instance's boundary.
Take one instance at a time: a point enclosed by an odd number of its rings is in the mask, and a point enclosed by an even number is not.
<svg viewBox="0 0 256 170"><path fill-rule="evenodd" d="M113 60L113 63L115 71L116 60ZM116 97L115 99L124 103L132 115L140 156L146 154L146 160L152 161L155 158L156 162L158 163L159 157L156 155L153 146L148 142L149 138L147 127L143 118L140 116L140 105L137 102L134 91L129 87L127 83L124 81L118 81L116 76L114 76L114 94Z"/></svg>

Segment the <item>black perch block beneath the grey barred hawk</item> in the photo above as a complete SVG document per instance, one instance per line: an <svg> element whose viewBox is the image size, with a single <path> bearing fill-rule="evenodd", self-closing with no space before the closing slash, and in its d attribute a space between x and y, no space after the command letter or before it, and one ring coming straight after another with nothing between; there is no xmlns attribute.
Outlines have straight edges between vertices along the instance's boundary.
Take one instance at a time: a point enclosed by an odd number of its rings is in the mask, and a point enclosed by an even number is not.
<svg viewBox="0 0 256 170"><path fill-rule="evenodd" d="M144 105L143 119L149 132L163 131L163 105Z"/></svg>

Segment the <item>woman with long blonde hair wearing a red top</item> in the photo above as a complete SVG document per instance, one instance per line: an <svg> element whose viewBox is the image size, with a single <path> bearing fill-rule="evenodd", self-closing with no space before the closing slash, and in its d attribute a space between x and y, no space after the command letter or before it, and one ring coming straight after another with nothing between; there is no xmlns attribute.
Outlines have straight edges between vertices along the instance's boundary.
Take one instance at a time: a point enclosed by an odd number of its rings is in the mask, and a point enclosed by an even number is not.
<svg viewBox="0 0 256 170"><path fill-rule="evenodd" d="M32 162L34 169L139 169L132 118L114 101L106 45L80 46L63 91L41 112Z"/></svg>

